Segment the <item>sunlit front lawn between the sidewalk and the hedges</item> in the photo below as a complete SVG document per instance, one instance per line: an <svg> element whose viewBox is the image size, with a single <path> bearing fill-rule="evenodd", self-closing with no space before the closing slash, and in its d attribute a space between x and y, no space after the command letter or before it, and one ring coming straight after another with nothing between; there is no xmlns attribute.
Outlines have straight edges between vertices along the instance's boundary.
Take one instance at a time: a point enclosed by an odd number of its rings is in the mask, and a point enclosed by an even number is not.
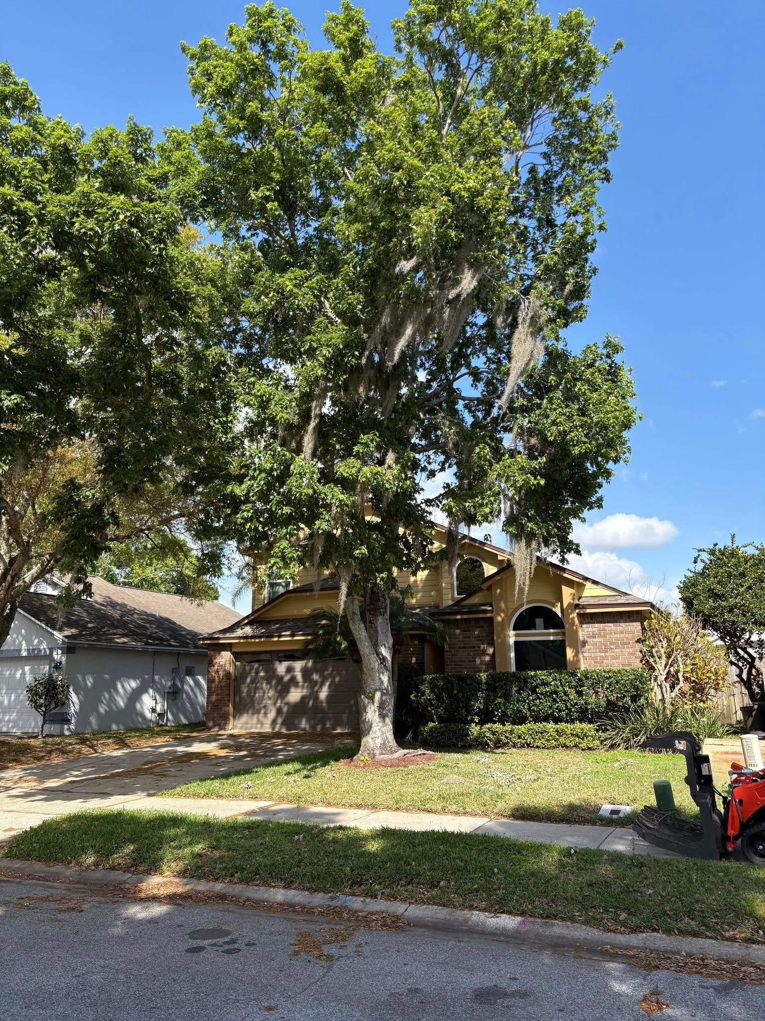
<svg viewBox="0 0 765 1021"><path fill-rule="evenodd" d="M456 815L614 825L602 805L654 804L653 781L672 781L678 806L696 809L681 756L640 751L452 751L424 766L360 770L338 765L350 747L260 766L172 790L166 797L267 798L291 805L401 809ZM628 826L631 819L616 820Z"/></svg>

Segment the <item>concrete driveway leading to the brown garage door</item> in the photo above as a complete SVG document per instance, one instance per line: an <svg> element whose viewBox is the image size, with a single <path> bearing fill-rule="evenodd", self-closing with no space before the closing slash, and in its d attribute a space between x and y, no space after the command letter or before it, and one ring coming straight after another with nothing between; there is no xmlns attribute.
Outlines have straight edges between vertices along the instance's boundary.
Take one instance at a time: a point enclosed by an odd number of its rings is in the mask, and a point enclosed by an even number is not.
<svg viewBox="0 0 765 1021"><path fill-rule="evenodd" d="M181 783L319 751L336 740L303 734L201 734L144 748L2 770L0 841L51 816L83 809L138 808L140 803L143 808L147 796ZM162 803L154 807L161 809ZM197 803L197 811L202 808ZM207 808L214 812L214 803ZM231 810L220 814L230 815Z"/></svg>

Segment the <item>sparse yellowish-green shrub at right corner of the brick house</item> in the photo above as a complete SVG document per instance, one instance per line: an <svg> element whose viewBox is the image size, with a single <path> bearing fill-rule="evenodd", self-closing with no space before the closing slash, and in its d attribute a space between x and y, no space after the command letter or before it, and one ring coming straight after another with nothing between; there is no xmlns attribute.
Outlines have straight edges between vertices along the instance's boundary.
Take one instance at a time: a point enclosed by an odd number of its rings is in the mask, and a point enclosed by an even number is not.
<svg viewBox="0 0 765 1021"><path fill-rule="evenodd" d="M651 674L654 700L706 702L727 681L725 650L715 645L697 618L652 614L639 639L641 662Z"/></svg>

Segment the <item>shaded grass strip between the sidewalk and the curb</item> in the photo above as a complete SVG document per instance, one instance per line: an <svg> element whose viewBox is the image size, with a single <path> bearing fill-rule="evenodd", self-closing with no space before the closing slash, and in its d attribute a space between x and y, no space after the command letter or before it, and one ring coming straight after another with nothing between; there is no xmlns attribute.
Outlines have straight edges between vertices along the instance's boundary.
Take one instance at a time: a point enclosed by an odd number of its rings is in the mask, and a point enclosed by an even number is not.
<svg viewBox="0 0 765 1021"><path fill-rule="evenodd" d="M765 942L765 869L731 862L110 810L50 819L13 837L5 854L563 919L609 931Z"/></svg>

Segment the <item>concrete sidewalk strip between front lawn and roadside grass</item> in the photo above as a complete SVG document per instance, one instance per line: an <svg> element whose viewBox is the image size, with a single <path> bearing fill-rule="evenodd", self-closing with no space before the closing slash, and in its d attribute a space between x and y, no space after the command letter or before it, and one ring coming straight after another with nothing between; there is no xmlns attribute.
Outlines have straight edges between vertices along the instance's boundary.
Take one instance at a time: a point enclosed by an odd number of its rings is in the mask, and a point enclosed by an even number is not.
<svg viewBox="0 0 765 1021"><path fill-rule="evenodd" d="M79 811L82 803L48 806L50 816L61 812ZM262 800L226 800L202 797L151 797L132 796L110 798L104 808L148 809L154 812L188 812L192 815L210 815L220 819L263 819L274 822L311 823L315 826L358 826L360 829L389 827L401 830L430 830L450 833L475 833L500 836L515 840L538 840L541 843L560 843L567 847L589 847L599 850L617 850L625 855L654 855L658 858L676 858L671 852L654 847L636 836L631 829L612 826L572 826L565 823L534 823L510 819L489 819L480 816L442 816L427 812L390 812L387 810L335 809L306 805L284 805ZM12 812L7 812L5 823L12 825ZM36 819L40 822L44 816ZM20 822L20 819L19 819ZM21 826L18 827L22 828ZM11 834L8 833L10 836Z"/></svg>

